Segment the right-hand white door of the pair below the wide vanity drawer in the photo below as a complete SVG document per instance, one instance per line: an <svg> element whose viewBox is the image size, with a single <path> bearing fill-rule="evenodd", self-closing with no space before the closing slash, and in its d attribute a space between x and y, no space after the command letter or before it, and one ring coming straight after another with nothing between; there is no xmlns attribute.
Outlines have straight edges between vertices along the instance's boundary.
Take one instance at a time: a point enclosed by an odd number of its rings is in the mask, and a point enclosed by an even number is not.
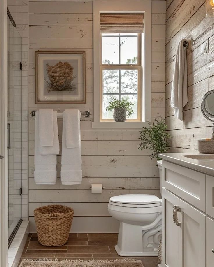
<svg viewBox="0 0 214 267"><path fill-rule="evenodd" d="M181 199L179 208L179 258L182 259L182 267L205 266L206 214Z"/></svg>

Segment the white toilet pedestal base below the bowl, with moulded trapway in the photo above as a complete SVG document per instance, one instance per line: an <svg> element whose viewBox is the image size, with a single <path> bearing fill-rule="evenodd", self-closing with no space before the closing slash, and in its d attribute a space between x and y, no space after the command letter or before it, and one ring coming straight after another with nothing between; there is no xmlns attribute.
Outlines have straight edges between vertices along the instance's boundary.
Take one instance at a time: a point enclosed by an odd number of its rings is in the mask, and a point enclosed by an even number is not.
<svg viewBox="0 0 214 267"><path fill-rule="evenodd" d="M158 256L161 237L161 214L150 225L120 222L115 250L120 256Z"/></svg>

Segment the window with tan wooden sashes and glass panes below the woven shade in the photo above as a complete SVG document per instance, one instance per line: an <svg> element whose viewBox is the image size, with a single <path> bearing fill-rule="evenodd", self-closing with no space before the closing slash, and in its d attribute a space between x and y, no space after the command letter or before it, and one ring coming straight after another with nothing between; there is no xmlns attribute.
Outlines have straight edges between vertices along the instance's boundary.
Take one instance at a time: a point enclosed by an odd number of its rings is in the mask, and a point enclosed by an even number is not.
<svg viewBox="0 0 214 267"><path fill-rule="evenodd" d="M134 113L127 120L141 120L141 38L140 33L101 34L101 120L113 120L113 111L106 111L112 97L131 100Z"/></svg>

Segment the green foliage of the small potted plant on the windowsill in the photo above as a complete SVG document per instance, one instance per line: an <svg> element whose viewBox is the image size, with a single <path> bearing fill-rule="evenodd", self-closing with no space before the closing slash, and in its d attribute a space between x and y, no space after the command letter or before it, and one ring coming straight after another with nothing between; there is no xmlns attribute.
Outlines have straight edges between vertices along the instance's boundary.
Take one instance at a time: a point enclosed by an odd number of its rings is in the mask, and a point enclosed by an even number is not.
<svg viewBox="0 0 214 267"><path fill-rule="evenodd" d="M126 109L126 113L128 118L134 112L132 106L134 104L127 100L126 98L122 98L121 100L117 100L117 98L113 97L109 102L108 106L106 107L106 111L112 111L113 109Z"/></svg>

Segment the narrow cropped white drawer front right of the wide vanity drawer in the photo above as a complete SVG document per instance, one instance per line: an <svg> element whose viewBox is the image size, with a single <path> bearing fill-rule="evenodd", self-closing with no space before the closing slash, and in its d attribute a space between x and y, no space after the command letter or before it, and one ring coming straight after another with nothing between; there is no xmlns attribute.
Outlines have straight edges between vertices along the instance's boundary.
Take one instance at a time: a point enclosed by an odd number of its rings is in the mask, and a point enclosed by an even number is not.
<svg viewBox="0 0 214 267"><path fill-rule="evenodd" d="M209 175L206 176L206 213L214 218L214 177Z"/></svg>

